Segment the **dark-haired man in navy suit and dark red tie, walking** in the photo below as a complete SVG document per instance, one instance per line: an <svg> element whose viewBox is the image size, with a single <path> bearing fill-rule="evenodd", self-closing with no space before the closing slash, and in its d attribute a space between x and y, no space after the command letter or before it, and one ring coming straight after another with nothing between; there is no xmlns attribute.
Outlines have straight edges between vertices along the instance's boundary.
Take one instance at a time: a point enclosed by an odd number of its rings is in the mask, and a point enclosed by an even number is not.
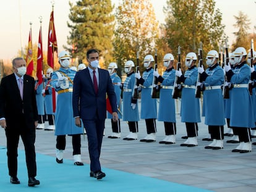
<svg viewBox="0 0 256 192"><path fill-rule="evenodd" d="M106 119L106 94L113 111L113 120L118 120L116 94L107 70L98 69L99 53L96 49L87 51L87 69L77 72L74 78L73 111L75 125L83 121L90 154L90 177L101 179L100 151Z"/></svg>

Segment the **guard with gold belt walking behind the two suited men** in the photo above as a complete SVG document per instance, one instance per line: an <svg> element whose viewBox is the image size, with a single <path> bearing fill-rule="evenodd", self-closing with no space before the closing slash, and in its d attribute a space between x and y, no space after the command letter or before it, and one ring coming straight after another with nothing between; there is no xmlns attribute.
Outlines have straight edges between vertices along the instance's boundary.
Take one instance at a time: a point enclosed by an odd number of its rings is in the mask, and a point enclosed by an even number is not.
<svg viewBox="0 0 256 192"><path fill-rule="evenodd" d="M66 135L72 136L73 157L75 165L83 165L81 160L81 138L82 127L75 125L72 109L72 92L75 71L69 68L69 53L59 53L58 71L54 71L51 86L58 92L56 113L55 113L55 135L56 138L56 162L63 163L64 149L66 148Z"/></svg>

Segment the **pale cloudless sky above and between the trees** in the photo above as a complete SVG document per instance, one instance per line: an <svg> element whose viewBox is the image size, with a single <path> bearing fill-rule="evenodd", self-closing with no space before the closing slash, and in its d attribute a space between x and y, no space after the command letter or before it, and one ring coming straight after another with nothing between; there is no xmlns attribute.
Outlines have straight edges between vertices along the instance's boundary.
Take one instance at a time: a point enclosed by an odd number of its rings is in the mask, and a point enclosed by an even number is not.
<svg viewBox="0 0 256 192"><path fill-rule="evenodd" d="M1 0L3 1L3 0ZM122 0L112 0L118 6ZM156 19L164 23L163 7L166 0L150 0L156 14ZM10 60L17 56L18 51L28 44L28 33L30 22L32 22L32 42L38 43L40 30L40 19L42 17L42 38L43 50L47 51L47 38L49 27L49 16L54 2L54 23L58 41L59 51L67 46L67 36L70 29L67 27L69 21L69 0L8 0L0 6L0 59ZM75 3L75 0L70 0ZM234 15L238 15L241 10L248 15L251 25L249 33L253 33L256 25L256 3L255 0L216 0L216 8L223 13L223 24L226 25L225 33L229 37L229 44L234 41L233 32L237 31L233 25L236 22ZM37 54L37 53L36 53Z"/></svg>

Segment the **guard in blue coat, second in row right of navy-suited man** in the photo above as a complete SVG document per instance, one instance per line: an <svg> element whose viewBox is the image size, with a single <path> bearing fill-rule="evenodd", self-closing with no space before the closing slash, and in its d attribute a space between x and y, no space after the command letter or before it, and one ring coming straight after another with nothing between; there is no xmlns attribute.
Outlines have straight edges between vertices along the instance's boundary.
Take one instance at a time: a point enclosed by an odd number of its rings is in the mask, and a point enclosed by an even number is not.
<svg viewBox="0 0 256 192"><path fill-rule="evenodd" d="M138 139L138 121L139 108L137 99L132 98L132 90L134 90L135 75L134 75L134 62L127 61L124 64L124 72L127 74L124 85L122 86L122 120L128 122L130 133L123 140L137 140Z"/></svg>

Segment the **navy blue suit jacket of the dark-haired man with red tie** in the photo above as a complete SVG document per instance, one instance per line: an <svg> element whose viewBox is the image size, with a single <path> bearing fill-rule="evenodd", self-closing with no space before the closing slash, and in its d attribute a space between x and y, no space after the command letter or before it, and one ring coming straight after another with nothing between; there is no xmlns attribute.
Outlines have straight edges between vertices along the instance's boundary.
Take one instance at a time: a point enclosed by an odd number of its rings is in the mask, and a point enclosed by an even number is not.
<svg viewBox="0 0 256 192"><path fill-rule="evenodd" d="M81 70L75 74L73 87L74 117L93 120L98 115L100 120L106 119L106 93L113 112L117 112L116 94L114 93L114 86L109 73L104 69L98 69L98 72L98 94L95 93L88 69Z"/></svg>

